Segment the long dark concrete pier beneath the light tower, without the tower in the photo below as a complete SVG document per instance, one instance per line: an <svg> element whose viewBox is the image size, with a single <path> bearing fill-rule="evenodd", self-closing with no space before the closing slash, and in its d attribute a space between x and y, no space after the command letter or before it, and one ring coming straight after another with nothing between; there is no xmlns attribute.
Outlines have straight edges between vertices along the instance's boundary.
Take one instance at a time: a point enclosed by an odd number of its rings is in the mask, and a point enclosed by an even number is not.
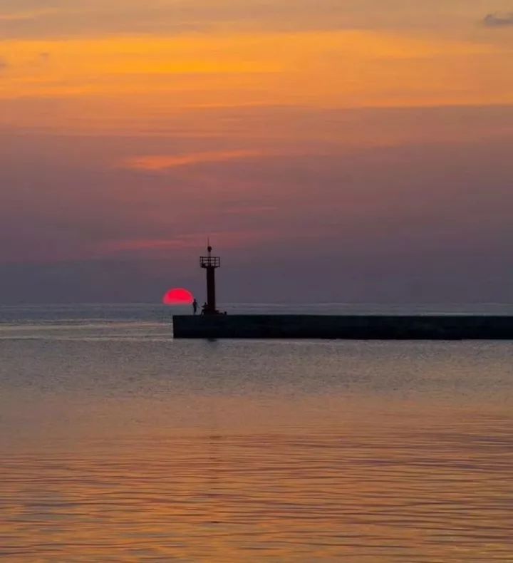
<svg viewBox="0 0 513 563"><path fill-rule="evenodd" d="M513 316L173 316L176 339L513 340Z"/></svg>

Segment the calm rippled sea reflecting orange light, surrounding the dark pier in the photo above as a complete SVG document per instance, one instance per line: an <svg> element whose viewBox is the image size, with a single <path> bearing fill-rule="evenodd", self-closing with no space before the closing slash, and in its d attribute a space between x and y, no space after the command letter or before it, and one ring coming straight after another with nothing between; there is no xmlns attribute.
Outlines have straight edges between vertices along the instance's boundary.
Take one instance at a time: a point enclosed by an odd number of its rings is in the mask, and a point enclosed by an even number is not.
<svg viewBox="0 0 513 563"><path fill-rule="evenodd" d="M173 312L0 307L0 559L513 561L513 342L175 341Z"/></svg>

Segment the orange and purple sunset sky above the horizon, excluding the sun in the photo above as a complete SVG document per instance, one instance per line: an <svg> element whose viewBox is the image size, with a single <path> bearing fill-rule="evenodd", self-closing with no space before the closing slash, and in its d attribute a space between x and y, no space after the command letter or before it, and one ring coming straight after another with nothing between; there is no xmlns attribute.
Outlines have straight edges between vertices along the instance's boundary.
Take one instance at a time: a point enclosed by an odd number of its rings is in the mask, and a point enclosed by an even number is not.
<svg viewBox="0 0 513 563"><path fill-rule="evenodd" d="M513 300L512 0L0 0L0 304Z"/></svg>

